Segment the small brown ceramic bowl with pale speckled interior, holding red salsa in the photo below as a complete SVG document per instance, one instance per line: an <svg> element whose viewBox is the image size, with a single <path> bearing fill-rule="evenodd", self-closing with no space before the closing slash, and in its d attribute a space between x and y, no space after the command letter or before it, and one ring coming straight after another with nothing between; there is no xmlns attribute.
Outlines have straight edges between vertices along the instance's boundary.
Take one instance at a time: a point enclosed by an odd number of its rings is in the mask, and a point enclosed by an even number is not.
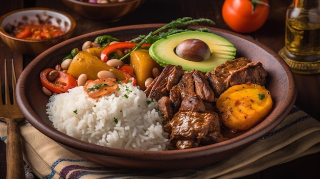
<svg viewBox="0 0 320 179"><path fill-rule="evenodd" d="M48 39L27 40L13 36L14 27L21 24L53 24L65 33ZM44 50L72 37L75 19L65 12L48 8L26 8L9 12L0 17L0 37L12 49L21 54L37 56Z"/></svg>

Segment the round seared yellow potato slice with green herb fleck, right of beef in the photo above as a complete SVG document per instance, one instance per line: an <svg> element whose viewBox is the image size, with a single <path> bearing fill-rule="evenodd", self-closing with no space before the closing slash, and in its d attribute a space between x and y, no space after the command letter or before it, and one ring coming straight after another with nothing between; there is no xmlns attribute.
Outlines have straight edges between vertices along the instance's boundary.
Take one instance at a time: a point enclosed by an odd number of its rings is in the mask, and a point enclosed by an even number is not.
<svg viewBox="0 0 320 179"><path fill-rule="evenodd" d="M265 118L273 104L265 87L251 83L228 88L216 102L223 124L241 131Z"/></svg>

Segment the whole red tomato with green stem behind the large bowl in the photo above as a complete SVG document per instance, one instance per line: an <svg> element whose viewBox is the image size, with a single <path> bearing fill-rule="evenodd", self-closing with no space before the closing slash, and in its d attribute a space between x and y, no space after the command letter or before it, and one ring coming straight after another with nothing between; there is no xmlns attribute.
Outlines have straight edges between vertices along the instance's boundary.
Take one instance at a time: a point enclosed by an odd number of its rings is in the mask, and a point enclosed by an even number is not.
<svg viewBox="0 0 320 179"><path fill-rule="evenodd" d="M225 0L222 6L223 20L238 33L258 30L268 15L268 0Z"/></svg>

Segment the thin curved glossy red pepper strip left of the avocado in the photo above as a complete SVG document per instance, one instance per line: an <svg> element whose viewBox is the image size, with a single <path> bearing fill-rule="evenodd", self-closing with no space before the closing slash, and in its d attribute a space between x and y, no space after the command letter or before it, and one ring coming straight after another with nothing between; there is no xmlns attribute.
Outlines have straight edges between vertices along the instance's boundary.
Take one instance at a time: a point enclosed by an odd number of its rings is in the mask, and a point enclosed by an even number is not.
<svg viewBox="0 0 320 179"><path fill-rule="evenodd" d="M105 48L103 48L101 55L100 55L100 59L103 62L107 62L108 61L108 56L112 53L115 52L116 49L122 49L122 48L130 48L132 49L135 45L138 45L138 43L135 42L118 42L118 43L113 43L111 45L106 46ZM141 47L147 47L150 46L150 44L144 43L141 45Z"/></svg>

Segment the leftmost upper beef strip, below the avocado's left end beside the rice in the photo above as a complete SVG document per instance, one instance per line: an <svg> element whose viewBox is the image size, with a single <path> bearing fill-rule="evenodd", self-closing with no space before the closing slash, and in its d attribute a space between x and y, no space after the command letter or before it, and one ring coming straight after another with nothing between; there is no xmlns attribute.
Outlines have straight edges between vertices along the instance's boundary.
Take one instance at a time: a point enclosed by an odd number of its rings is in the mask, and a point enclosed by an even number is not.
<svg viewBox="0 0 320 179"><path fill-rule="evenodd" d="M170 89L179 82L184 72L181 66L167 65L154 83L147 87L145 93L156 100L169 96Z"/></svg>

